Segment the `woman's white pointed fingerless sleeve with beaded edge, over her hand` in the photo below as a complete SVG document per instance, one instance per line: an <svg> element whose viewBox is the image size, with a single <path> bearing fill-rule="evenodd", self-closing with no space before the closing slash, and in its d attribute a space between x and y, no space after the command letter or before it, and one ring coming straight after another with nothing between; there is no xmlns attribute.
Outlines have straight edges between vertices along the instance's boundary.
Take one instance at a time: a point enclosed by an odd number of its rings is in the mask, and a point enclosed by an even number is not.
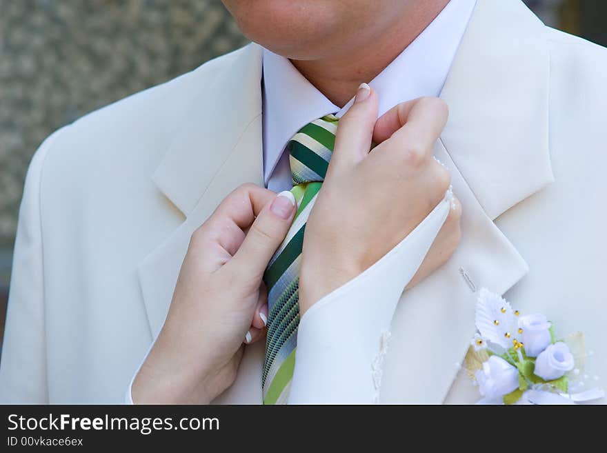
<svg viewBox="0 0 607 453"><path fill-rule="evenodd" d="M289 404L379 401L392 316L450 207L449 194L388 254L304 314Z"/></svg>

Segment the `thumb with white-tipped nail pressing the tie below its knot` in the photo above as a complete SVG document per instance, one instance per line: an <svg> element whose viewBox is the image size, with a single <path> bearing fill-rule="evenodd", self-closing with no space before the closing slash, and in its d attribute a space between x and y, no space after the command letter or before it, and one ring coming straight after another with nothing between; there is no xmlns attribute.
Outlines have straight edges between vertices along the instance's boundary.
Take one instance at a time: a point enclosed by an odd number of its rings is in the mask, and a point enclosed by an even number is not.
<svg viewBox="0 0 607 453"><path fill-rule="evenodd" d="M240 248L230 260L242 272L259 277L285 239L295 216L295 197L288 190L268 202L249 228Z"/></svg>

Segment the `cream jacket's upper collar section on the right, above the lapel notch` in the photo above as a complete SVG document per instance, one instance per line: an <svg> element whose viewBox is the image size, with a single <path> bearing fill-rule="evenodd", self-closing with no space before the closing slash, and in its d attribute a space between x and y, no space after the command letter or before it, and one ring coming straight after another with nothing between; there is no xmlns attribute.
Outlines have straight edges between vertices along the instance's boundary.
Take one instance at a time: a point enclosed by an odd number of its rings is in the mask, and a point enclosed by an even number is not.
<svg viewBox="0 0 607 453"><path fill-rule="evenodd" d="M553 181L545 35L520 0L478 0L441 93L441 139L490 219Z"/></svg>

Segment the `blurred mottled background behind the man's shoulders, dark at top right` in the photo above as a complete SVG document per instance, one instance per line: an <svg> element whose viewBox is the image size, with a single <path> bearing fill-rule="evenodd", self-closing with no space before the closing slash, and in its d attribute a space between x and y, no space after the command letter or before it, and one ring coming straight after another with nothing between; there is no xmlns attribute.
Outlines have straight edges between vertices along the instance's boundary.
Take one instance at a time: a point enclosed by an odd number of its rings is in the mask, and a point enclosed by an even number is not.
<svg viewBox="0 0 607 453"><path fill-rule="evenodd" d="M607 46L607 0L526 3ZM246 42L219 0L0 0L0 345L23 179L41 141Z"/></svg>

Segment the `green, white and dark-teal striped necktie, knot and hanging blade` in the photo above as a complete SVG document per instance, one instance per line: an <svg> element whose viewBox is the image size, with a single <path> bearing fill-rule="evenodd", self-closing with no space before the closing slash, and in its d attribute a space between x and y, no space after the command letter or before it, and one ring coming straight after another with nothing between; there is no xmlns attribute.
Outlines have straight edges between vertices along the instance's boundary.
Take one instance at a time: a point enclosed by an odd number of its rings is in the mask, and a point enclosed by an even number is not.
<svg viewBox="0 0 607 453"><path fill-rule="evenodd" d="M264 404L284 404L288 398L299 325L301 246L306 221L331 159L337 121L335 115L312 121L287 144L293 179L291 192L299 208L263 276L268 287L268 334L262 377Z"/></svg>

